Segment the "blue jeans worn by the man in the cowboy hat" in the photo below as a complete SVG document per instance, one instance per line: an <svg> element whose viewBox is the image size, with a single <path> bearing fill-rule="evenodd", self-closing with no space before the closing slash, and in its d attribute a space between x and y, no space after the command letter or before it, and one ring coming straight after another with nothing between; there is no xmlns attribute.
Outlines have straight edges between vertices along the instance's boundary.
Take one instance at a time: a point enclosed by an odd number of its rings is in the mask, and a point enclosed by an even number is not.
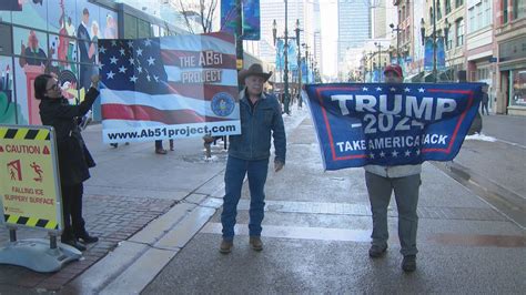
<svg viewBox="0 0 526 295"><path fill-rule="evenodd" d="M264 217L266 173L269 171L269 159L249 161L229 156L226 172L224 174L225 195L223 197L223 212L221 223L223 224L223 238L234 238L235 216L237 215L237 203L241 197L241 189L245 174L249 174L250 187L250 236L261 236L261 222Z"/></svg>

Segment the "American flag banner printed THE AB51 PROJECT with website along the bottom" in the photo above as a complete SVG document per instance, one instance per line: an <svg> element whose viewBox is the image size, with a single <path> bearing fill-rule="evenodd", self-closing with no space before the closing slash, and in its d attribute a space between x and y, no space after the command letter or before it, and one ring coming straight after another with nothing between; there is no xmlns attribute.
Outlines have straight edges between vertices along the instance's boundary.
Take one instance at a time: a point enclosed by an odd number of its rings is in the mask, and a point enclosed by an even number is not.
<svg viewBox="0 0 526 295"><path fill-rule="evenodd" d="M241 133L234 38L100 40L107 143Z"/></svg>

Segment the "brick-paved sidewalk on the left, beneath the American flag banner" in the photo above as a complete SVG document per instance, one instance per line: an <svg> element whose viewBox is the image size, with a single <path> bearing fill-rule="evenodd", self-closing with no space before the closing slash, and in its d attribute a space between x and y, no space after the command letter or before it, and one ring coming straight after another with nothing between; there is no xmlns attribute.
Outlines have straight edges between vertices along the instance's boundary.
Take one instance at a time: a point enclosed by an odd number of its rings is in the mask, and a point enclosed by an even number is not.
<svg viewBox="0 0 526 295"><path fill-rule="evenodd" d="M83 136L97 162L92 177L84 183L83 215L88 231L100 242L89 245L81 261L55 274L2 265L0 292L61 289L172 207L222 190L226 156L222 145L214 146L214 160L205 162L201 139L175 141L175 151L158 155L153 142L122 144L119 149L103 144L101 125L89 126ZM0 242L9 241L7 230L0 233ZM18 231L19 240L45 236L44 232Z"/></svg>

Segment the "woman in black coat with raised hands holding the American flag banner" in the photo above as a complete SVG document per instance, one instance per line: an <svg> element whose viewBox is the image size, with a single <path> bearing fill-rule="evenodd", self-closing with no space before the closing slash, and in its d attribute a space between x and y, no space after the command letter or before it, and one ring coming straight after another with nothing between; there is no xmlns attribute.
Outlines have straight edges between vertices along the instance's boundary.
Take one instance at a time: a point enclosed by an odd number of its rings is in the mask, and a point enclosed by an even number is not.
<svg viewBox="0 0 526 295"><path fill-rule="evenodd" d="M78 120L81 119L99 96L99 77L91 78L91 88L78 105L69 104L62 96L59 81L50 74L34 80L34 96L40 100L40 119L43 125L54 128L59 154L60 185L64 228L61 241L84 251L83 243L99 241L85 231L82 218L82 183L90 177L89 169L95 163L85 148Z"/></svg>

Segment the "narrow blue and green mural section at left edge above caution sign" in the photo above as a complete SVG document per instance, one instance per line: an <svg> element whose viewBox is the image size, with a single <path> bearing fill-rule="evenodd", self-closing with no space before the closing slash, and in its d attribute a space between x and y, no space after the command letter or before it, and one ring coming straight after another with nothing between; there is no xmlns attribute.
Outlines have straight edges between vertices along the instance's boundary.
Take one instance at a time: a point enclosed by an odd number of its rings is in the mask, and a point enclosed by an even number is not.
<svg viewBox="0 0 526 295"><path fill-rule="evenodd" d="M11 57L0 57L0 124L27 122L20 113L20 105L14 99L13 63Z"/></svg>

